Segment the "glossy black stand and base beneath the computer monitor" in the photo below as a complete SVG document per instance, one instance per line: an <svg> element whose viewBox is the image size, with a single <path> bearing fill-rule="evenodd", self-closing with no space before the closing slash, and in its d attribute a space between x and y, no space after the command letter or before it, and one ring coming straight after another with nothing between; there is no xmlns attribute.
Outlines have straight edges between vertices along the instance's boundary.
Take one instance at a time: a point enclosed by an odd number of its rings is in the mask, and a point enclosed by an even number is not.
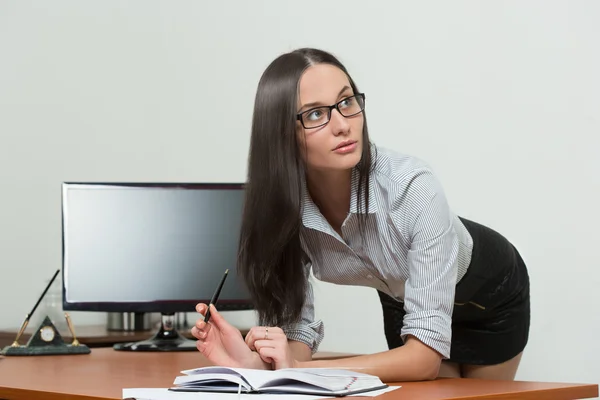
<svg viewBox="0 0 600 400"><path fill-rule="evenodd" d="M197 351L196 341L182 336L175 329L175 315L161 314L159 331L150 339L139 342L117 343L115 350L124 351Z"/></svg>

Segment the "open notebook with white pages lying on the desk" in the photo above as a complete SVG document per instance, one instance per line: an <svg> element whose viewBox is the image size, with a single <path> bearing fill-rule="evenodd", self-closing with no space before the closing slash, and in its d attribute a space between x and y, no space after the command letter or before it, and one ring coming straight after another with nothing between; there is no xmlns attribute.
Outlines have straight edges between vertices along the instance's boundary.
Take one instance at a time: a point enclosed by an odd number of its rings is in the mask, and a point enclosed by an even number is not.
<svg viewBox="0 0 600 400"><path fill-rule="evenodd" d="M275 371L204 367L181 372L169 390L181 392L285 393L347 396L386 388L373 375L345 369L289 368Z"/></svg>

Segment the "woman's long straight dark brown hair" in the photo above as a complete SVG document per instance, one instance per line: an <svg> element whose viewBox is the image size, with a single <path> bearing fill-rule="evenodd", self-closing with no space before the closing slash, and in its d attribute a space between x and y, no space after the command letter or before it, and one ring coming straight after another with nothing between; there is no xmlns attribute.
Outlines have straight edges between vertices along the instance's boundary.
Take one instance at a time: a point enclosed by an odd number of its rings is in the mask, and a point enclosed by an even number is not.
<svg viewBox="0 0 600 400"><path fill-rule="evenodd" d="M285 326L300 318L307 289L307 259L300 245L305 162L296 133L298 86L304 71L327 63L346 68L330 53L303 48L276 58L256 92L248 158L246 199L238 271L245 280L261 325ZM368 210L371 145L366 117L357 204ZM359 214L362 211L359 208Z"/></svg>

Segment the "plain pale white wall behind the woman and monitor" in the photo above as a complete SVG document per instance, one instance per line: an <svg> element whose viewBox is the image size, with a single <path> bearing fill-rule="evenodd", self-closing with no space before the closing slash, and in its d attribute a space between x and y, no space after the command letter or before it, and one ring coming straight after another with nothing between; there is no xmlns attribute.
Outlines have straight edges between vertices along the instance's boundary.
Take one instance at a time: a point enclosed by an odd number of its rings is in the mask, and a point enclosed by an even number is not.
<svg viewBox="0 0 600 400"><path fill-rule="evenodd" d="M314 46L367 93L374 141L522 252L518 378L598 383L598 21L567 0L0 2L0 328L60 267L62 181L244 180L260 74ZM385 349L374 291L315 291L322 350Z"/></svg>

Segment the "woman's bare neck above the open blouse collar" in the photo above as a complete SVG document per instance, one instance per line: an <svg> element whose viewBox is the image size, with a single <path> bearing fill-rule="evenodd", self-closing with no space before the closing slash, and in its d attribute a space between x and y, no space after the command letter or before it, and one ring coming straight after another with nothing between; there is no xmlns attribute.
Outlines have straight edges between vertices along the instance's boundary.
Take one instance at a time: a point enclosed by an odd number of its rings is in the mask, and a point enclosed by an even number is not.
<svg viewBox="0 0 600 400"><path fill-rule="evenodd" d="M329 224L341 234L341 226L350 211L352 170L309 171L307 187L315 205Z"/></svg>

